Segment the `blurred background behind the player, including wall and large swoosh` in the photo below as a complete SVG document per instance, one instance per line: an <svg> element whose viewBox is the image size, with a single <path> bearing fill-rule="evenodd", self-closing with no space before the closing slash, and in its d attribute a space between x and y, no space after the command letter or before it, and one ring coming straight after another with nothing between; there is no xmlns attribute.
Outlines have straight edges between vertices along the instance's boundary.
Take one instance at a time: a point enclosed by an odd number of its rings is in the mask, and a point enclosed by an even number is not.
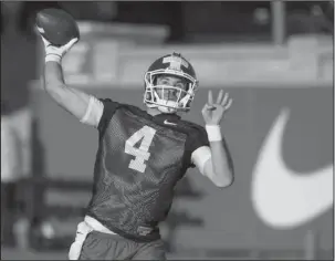
<svg viewBox="0 0 335 261"><path fill-rule="evenodd" d="M234 184L188 171L161 225L169 259L334 259L333 1L1 1L1 259L65 260L91 196L95 129L41 88L50 7L81 30L67 84L143 106L145 71L176 51L200 81L186 119L203 124L208 90L234 100Z"/></svg>

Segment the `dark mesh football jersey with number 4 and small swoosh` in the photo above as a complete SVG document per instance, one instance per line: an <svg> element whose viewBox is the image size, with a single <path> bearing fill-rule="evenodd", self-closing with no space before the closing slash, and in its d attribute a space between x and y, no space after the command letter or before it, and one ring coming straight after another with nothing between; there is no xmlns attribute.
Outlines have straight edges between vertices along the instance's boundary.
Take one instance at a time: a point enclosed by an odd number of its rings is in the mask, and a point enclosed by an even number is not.
<svg viewBox="0 0 335 261"><path fill-rule="evenodd" d="M206 130L177 115L151 116L132 105L101 101L104 112L87 215L125 238L157 240L177 181L195 167L192 152L209 145Z"/></svg>

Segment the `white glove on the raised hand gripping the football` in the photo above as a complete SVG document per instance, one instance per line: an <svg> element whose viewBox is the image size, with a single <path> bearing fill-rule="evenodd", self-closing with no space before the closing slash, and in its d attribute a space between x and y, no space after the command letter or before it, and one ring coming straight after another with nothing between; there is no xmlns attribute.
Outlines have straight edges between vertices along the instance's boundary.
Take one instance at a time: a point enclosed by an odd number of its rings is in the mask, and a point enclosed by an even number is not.
<svg viewBox="0 0 335 261"><path fill-rule="evenodd" d="M39 28L38 31L40 32ZM44 50L45 50L45 62L53 61L61 63L62 58L65 55L65 53L78 41L77 38L74 38L70 40L66 44L62 46L55 46L52 45L43 35L41 34L41 39L44 43Z"/></svg>

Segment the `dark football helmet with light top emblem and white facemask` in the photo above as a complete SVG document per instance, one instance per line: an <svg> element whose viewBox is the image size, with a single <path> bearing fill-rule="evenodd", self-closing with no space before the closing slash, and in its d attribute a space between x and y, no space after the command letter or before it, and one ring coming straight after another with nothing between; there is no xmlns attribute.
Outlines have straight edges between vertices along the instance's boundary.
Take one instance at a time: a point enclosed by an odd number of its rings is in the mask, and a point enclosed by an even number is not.
<svg viewBox="0 0 335 261"><path fill-rule="evenodd" d="M171 75L185 81L181 86L157 84L157 77ZM188 112L198 87L198 80L192 65L179 53L157 59L145 73L144 103L147 107L157 107L163 113ZM174 93L174 95L169 95Z"/></svg>

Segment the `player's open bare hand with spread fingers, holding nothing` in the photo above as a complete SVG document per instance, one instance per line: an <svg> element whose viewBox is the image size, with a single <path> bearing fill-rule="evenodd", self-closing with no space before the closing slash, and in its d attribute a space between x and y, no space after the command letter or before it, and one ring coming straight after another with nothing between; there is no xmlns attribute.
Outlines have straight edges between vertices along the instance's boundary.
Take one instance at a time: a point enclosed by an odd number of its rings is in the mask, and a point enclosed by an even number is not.
<svg viewBox="0 0 335 261"><path fill-rule="evenodd" d="M205 104L201 113L206 125L220 125L224 113L229 109L232 104L232 98L229 97L228 93L223 90L219 92L217 102L213 103L212 92L208 92L208 101Z"/></svg>

